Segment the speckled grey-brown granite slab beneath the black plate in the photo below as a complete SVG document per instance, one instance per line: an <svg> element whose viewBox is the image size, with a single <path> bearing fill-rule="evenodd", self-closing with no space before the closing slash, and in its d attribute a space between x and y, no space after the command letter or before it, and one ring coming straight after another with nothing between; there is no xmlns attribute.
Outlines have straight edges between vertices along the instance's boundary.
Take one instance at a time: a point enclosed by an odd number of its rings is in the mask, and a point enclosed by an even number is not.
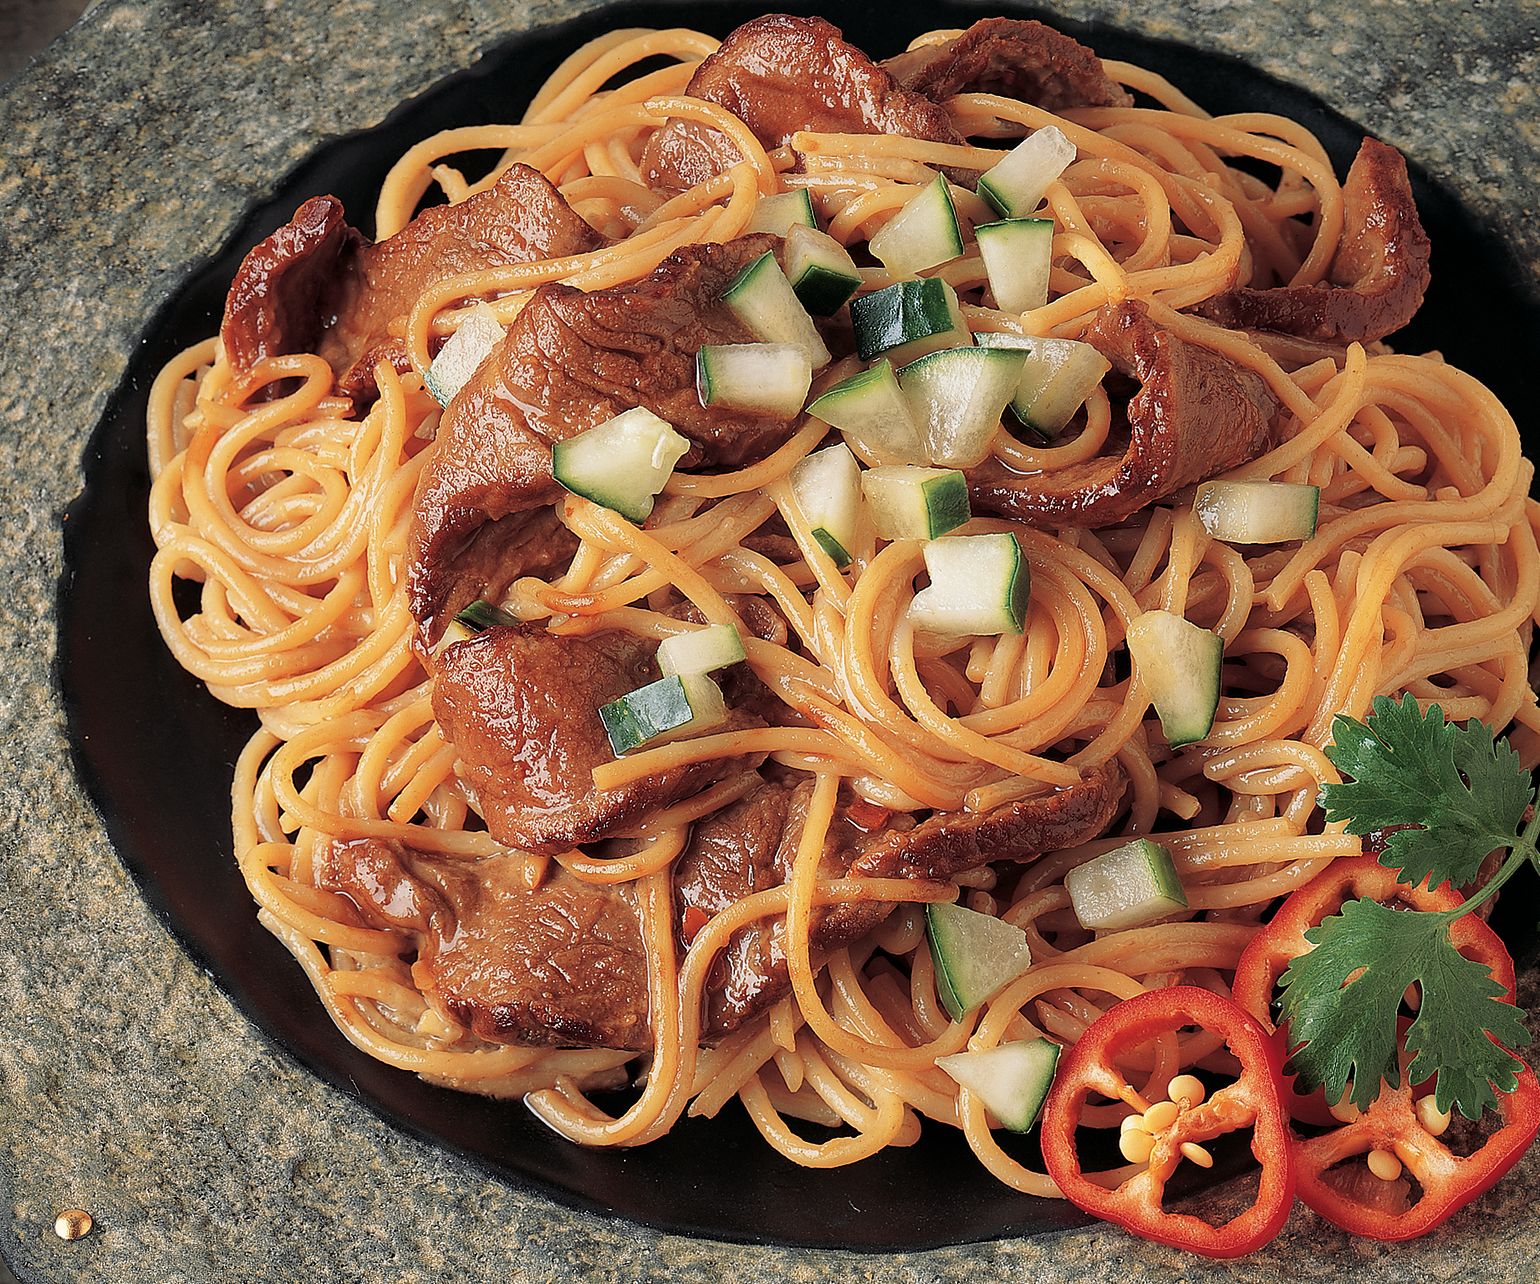
<svg viewBox="0 0 1540 1284"><path fill-rule="evenodd" d="M1431 1242L1349 1244L1301 1212L1234 1266L1106 1230L870 1258L567 1212L322 1087L157 924L71 774L51 677L60 517L83 443L143 319L273 176L497 38L587 8L106 0L0 92L0 1256L25 1284L1540 1278L1540 1152ZM1061 9L1321 92L1540 276L1535 0ZM52 1233L69 1205L97 1219L74 1244Z"/></svg>

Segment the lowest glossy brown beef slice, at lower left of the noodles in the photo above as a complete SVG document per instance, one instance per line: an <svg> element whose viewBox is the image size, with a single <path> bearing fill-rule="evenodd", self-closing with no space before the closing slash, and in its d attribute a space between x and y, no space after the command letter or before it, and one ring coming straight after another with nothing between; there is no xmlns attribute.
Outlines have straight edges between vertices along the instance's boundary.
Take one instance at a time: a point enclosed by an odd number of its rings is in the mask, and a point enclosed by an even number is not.
<svg viewBox="0 0 1540 1284"><path fill-rule="evenodd" d="M417 950L430 1005L497 1044L651 1045L647 956L625 888L561 868L534 891L514 856L453 861L397 842L334 842L316 870L371 927Z"/></svg>

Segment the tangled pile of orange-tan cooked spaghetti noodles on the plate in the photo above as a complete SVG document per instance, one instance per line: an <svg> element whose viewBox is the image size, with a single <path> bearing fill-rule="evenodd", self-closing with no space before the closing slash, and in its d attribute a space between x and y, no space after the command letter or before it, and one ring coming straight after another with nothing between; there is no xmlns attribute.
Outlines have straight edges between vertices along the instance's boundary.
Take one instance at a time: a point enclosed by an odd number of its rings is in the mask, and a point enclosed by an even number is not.
<svg viewBox="0 0 1540 1284"><path fill-rule="evenodd" d="M1072 1042L1113 1002L1178 979L1226 991L1266 907L1360 851L1360 839L1323 825L1315 807L1320 785L1337 779L1323 753L1334 714L1363 716L1377 694L1409 691L1451 717L1511 728L1525 764L1540 762L1528 657L1540 619L1532 466L1497 399L1438 356L1355 343L1341 363L1286 371L1247 333L1181 311L1238 274L1326 279L1344 228L1343 191L1301 125L1257 112L1212 117L1161 77L1107 63L1152 105L1055 115L969 92L944 106L973 143L804 131L767 151L728 111L685 95L716 43L690 31L613 32L573 54L522 122L450 129L399 160L379 196L380 239L434 189L462 202L517 160L610 243L453 276L422 293L399 328L413 369L382 362L379 400L362 417L319 356L270 357L242 374L208 340L165 368L149 402L156 617L191 674L260 719L234 777L240 870L262 922L357 1047L431 1082L524 1096L553 1129L590 1145L638 1145L685 1113L711 1116L736 1098L778 1152L833 1167L913 1144L924 1118L959 1127L1003 1182L1052 1196L1053 1182L998 1144L981 1102L936 1058L1040 1033ZM671 60L664 69L605 88L659 55ZM727 135L741 162L681 194L659 192L639 157L654 131L681 119ZM440 414L424 386L434 345L477 302L507 323L547 282L596 289L639 280L681 246L742 234L761 200L798 188L838 240L864 242L938 166L987 169L1044 125L1078 148L1047 188L1050 302L1026 314L986 306L986 269L970 248L938 274L958 289L972 329L1076 336L1104 305L1143 302L1160 325L1254 371L1277 397L1278 443L1234 476L1320 487L1318 531L1300 545L1230 547L1204 533L1181 496L1103 530L975 517L970 533L1009 531L1030 565L1026 628L946 640L916 634L906 619L922 570L918 545L882 545L867 528L839 570L813 539L787 483L827 433L813 419L758 463L675 474L645 527L576 497L559 505L578 554L564 574L513 587L507 605L517 617L557 633L662 639L687 627L670 607L688 602L708 622L741 624L733 604L759 596L790 637L782 645L742 630L747 662L801 714L795 725L619 757L594 773L596 787L728 751L767 754L816 782L785 885L710 919L687 947L676 936L670 864L690 825L741 796L745 777L653 816L628 854L556 858L578 879L630 887L638 905L653 1048L641 1058L645 1087L611 1116L590 1093L636 1081L636 1053L479 1039L425 999L397 933L367 925L316 878L320 850L340 839L396 839L450 862L517 856L476 814L414 650L403 559ZM490 172L464 174L456 165L467 154L491 159ZM1254 177L1250 162L1281 179ZM978 197L955 197L962 216L986 220ZM890 283L881 266L862 276L864 289ZM836 362L815 391L852 369ZM1030 445L1001 433L995 454L1019 471L1052 473L1096 456L1112 417L1096 390L1078 434ZM778 517L801 554L790 563L750 547ZM179 582L196 585L196 600ZM1138 677L1110 662L1130 620L1155 608L1224 642L1217 721L1178 751L1155 730ZM947 882L819 873L841 784L899 813L987 810L1072 784L1109 759L1130 785L1106 839ZM1066 873L1129 834L1152 833L1173 854L1189 910L1150 927L1083 930ZM551 861L522 859L525 884L537 887ZM924 935L926 902L955 898L1021 927L1033 958L962 1021L942 1010ZM844 902L896 908L825 958L810 942L812 915ZM713 964L735 930L772 916L785 919L790 993L702 1044ZM1157 1041L1130 1068L1132 1082L1158 1098L1172 1075L1212 1053L1212 1041ZM835 1132L808 1139L799 1121Z"/></svg>

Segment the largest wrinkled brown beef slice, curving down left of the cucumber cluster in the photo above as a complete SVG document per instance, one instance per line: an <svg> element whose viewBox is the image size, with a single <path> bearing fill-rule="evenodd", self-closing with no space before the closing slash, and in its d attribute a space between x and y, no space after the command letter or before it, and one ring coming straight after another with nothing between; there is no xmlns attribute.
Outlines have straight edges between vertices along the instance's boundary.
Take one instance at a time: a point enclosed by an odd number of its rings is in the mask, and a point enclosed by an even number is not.
<svg viewBox="0 0 1540 1284"><path fill-rule="evenodd" d="M464 605L451 591L470 543L477 540L477 556L494 562L487 545L516 537L516 514L561 493L551 477L553 442L638 405L690 439L682 466L742 465L792 434L790 419L702 406L695 386L702 345L753 342L722 291L778 245L768 236L691 245L633 285L534 293L445 410L417 488L408 588L430 637Z"/></svg>

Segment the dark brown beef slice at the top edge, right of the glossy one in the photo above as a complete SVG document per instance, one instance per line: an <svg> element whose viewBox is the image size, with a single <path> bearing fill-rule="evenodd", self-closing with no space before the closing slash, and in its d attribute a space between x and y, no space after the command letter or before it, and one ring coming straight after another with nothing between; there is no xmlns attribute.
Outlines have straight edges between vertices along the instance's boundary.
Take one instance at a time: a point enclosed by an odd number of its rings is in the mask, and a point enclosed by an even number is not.
<svg viewBox="0 0 1540 1284"><path fill-rule="evenodd" d="M884 59L881 66L938 103L956 94L1001 94L1055 112L1133 105L1090 49L1026 18L983 18L953 40Z"/></svg>

